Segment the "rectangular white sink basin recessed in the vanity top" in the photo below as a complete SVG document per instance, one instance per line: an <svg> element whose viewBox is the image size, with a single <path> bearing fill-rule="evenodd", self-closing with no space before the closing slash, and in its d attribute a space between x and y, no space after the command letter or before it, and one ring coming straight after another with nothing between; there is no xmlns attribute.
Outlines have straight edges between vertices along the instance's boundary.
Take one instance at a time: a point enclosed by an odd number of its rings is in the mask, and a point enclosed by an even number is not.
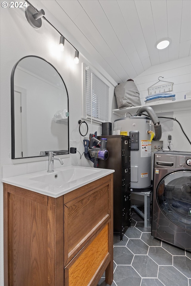
<svg viewBox="0 0 191 286"><path fill-rule="evenodd" d="M30 180L43 182L45 184L53 186L62 186L69 182L93 175L96 172L100 172L100 170L101 169L71 167L70 169L61 171L57 169L53 173L47 173L46 175L37 176L31 178Z"/></svg>

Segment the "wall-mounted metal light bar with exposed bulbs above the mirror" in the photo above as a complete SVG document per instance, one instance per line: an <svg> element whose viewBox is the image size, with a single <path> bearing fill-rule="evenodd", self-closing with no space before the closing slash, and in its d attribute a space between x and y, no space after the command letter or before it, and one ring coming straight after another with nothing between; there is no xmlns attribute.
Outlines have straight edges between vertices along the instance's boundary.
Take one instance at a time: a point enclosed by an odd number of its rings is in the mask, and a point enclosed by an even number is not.
<svg viewBox="0 0 191 286"><path fill-rule="evenodd" d="M28 0L26 0L26 2L29 4L29 6L27 6L27 8L25 9L25 16L26 16L27 21L29 22L29 24L33 28L38 29L42 25L41 18L44 19L51 27L53 27L60 34L59 48L63 52L64 51L64 40L66 40L68 43L70 43L70 42L61 34L61 32L58 31L58 29L56 29L53 26L53 24L51 24L47 20L47 18L44 17L45 13L44 13L43 9L38 11ZM73 46L73 44L71 44L71 43L70 43L70 45ZM79 52L75 48L75 46L73 46L73 48L76 50L75 51L74 63L78 64L79 63Z"/></svg>

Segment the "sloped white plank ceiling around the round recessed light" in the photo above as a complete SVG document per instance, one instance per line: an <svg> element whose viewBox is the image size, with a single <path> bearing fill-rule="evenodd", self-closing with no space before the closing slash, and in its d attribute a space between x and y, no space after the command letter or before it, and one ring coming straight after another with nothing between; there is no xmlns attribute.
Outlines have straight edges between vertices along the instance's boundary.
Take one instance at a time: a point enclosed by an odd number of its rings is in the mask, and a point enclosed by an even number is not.
<svg viewBox="0 0 191 286"><path fill-rule="evenodd" d="M190 0L41 3L117 83L137 77L150 66L190 56ZM162 38L172 42L158 50L155 43Z"/></svg>

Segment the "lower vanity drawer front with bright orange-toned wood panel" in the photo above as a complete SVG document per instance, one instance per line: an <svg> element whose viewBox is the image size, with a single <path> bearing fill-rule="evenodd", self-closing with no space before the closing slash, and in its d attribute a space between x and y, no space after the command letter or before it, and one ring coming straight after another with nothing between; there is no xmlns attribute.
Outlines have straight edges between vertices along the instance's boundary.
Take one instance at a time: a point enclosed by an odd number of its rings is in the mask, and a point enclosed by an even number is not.
<svg viewBox="0 0 191 286"><path fill-rule="evenodd" d="M98 270L101 271L110 257L109 229L109 224L103 226L64 268L64 285L93 285Z"/></svg>

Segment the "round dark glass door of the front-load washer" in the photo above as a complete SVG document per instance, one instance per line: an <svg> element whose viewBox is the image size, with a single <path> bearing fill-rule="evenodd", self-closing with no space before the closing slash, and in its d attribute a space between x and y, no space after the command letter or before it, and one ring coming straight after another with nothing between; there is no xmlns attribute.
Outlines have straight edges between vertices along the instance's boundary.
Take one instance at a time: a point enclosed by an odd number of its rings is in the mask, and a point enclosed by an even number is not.
<svg viewBox="0 0 191 286"><path fill-rule="evenodd" d="M158 205L175 224L191 229L191 171L176 171L158 184Z"/></svg>

